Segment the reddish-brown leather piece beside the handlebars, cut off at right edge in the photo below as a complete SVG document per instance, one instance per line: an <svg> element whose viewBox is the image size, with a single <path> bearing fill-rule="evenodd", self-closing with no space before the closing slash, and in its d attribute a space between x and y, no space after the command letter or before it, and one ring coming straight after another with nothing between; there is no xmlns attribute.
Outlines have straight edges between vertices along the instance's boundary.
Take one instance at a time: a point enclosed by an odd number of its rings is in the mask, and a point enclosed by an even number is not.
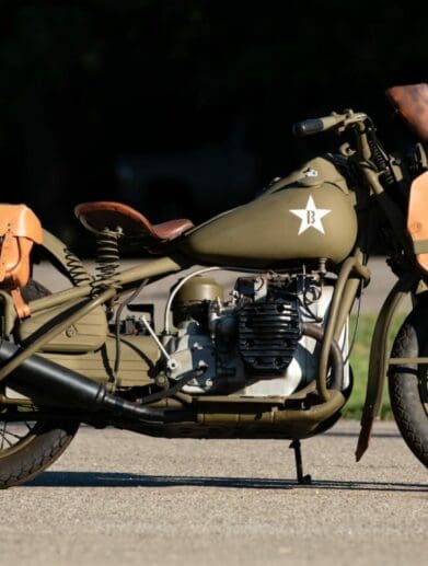
<svg viewBox="0 0 428 566"><path fill-rule="evenodd" d="M418 138L428 141L428 84L392 86L386 96Z"/></svg>

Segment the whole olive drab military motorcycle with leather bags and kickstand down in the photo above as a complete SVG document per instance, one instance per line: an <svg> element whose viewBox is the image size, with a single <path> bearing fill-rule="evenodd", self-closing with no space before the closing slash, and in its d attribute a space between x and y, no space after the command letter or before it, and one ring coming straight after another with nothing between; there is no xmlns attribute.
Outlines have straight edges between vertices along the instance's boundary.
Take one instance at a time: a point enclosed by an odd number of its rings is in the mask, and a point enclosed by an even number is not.
<svg viewBox="0 0 428 566"><path fill-rule="evenodd" d="M372 336L356 455L387 376L403 438L428 465L428 85L387 95L419 137L406 152L387 153L363 113L300 122L300 137L336 130L337 152L200 226L152 224L120 203L78 205L97 243L94 273L31 209L0 206L1 487L49 466L81 423L167 438L289 439L298 482L310 482L300 441L331 428L351 394L348 319L381 238L397 281ZM141 259L124 268L127 245ZM41 259L66 289L32 277ZM234 278L228 293L219 270ZM146 287L171 274L157 327ZM413 310L390 353L406 296Z"/></svg>

